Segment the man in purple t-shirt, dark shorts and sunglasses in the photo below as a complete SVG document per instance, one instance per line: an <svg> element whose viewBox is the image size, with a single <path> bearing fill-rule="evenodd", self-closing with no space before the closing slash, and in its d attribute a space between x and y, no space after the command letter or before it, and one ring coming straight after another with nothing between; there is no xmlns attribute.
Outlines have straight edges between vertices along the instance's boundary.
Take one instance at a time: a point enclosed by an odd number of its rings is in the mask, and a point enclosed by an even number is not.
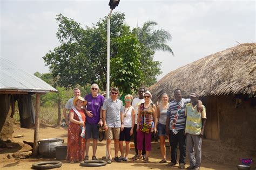
<svg viewBox="0 0 256 170"><path fill-rule="evenodd" d="M85 113L86 113L86 144L85 144L85 158L84 160L89 160L89 147L90 139L92 134L92 160L96 160L96 150L98 145L98 136L100 126L103 125L102 121L102 105L104 103L104 97L98 94L99 86L98 84L92 84L91 94L87 94L84 99L87 101Z"/></svg>

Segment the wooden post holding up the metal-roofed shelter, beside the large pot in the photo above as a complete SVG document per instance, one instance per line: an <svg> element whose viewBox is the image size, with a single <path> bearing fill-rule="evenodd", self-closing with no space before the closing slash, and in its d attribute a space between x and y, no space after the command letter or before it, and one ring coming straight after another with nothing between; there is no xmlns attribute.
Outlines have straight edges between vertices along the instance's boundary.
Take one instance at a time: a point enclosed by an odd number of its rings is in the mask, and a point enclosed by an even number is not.
<svg viewBox="0 0 256 170"><path fill-rule="evenodd" d="M36 93L36 121L34 131L33 157L37 156L38 152L38 133L39 133L39 114L40 114L40 95Z"/></svg>

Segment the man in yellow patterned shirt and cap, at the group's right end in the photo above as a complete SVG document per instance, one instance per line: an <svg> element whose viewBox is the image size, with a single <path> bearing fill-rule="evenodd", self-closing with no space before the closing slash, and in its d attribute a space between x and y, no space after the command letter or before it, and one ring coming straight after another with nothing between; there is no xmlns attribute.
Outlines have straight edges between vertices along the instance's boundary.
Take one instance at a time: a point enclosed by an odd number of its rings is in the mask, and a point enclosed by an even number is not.
<svg viewBox="0 0 256 170"><path fill-rule="evenodd" d="M198 94L191 93L191 103L188 103L185 108L186 116L186 146L190 157L190 166L187 169L199 170L201 166L201 146L202 138L204 136L204 129L206 123L205 106L202 105L203 111L197 111Z"/></svg>

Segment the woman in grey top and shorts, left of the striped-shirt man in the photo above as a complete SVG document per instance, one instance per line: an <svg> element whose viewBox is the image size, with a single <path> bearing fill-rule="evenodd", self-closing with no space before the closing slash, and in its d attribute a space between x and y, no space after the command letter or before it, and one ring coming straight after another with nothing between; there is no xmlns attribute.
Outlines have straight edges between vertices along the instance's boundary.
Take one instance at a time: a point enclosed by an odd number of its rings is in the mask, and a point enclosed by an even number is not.
<svg viewBox="0 0 256 170"><path fill-rule="evenodd" d="M161 103L157 106L157 131L160 139L160 149L162 160L159 162L160 164L166 163L166 148L165 148L165 125L166 125L166 113L168 108L168 100L169 97L166 93L161 95Z"/></svg>

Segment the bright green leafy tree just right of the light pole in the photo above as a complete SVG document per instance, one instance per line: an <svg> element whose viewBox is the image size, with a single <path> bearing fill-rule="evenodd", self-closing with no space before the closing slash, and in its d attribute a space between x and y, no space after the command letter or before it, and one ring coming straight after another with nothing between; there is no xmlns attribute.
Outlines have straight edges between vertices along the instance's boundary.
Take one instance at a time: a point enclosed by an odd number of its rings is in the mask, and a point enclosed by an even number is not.
<svg viewBox="0 0 256 170"><path fill-rule="evenodd" d="M114 86L121 93L132 94L140 86L143 72L141 69L140 43L136 36L127 34L120 37L118 54L111 59L111 75Z"/></svg>

